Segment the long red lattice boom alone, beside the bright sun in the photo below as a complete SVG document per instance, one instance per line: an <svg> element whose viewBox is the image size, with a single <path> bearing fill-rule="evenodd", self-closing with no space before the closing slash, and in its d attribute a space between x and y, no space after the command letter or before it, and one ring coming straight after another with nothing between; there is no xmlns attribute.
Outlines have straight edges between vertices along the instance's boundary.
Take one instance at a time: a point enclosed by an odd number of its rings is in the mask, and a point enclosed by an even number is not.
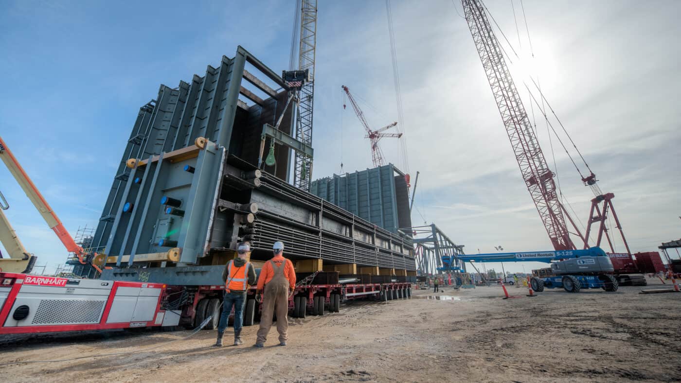
<svg viewBox="0 0 681 383"><path fill-rule="evenodd" d="M511 73L484 6L477 0L462 0L466 22L471 29L475 47L485 69L494 100L511 141L520 167L541 221L556 250L573 250L563 210L556 194L554 173L549 169L530 119L520 100Z"/></svg>

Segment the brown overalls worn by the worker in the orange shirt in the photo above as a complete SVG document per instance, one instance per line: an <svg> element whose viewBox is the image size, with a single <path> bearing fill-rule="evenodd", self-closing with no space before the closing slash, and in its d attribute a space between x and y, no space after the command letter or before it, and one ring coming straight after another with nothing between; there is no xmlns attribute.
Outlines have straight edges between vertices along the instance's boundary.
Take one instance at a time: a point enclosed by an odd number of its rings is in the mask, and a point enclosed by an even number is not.
<svg viewBox="0 0 681 383"><path fill-rule="evenodd" d="M286 331L289 329L289 280L284 276L284 268L286 261L277 266L274 261L272 263L272 270L274 276L272 280L265 285L265 290L262 297L262 314L260 316L260 328L257 331L256 344L265 344L267 340L267 333L272 327L272 314L276 310L276 331L279 333L279 342L286 342L288 339Z"/></svg>

